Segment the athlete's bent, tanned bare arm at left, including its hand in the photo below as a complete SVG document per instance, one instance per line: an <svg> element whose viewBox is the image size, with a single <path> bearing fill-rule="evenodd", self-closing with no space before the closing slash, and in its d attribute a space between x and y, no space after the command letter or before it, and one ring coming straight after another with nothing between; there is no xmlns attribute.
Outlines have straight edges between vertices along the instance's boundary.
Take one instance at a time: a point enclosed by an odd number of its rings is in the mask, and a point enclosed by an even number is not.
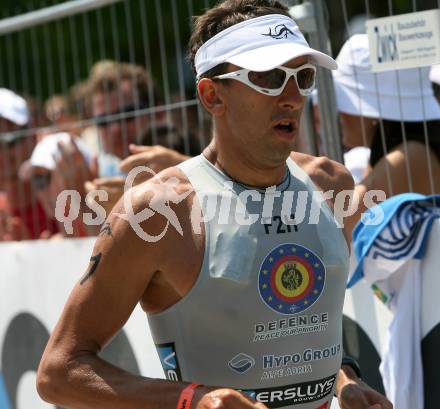
<svg viewBox="0 0 440 409"><path fill-rule="evenodd" d="M137 213L144 200L136 196L134 202ZM178 245L171 229L157 243L140 239L116 215L123 213L122 203L100 233L88 270L74 287L50 337L38 370L38 391L44 400L67 408L175 409L185 383L135 376L97 356L137 302L145 300L155 275L169 269L167 249ZM159 234L165 222L156 214L142 228ZM192 407L264 408L236 391L214 389L197 388Z"/></svg>

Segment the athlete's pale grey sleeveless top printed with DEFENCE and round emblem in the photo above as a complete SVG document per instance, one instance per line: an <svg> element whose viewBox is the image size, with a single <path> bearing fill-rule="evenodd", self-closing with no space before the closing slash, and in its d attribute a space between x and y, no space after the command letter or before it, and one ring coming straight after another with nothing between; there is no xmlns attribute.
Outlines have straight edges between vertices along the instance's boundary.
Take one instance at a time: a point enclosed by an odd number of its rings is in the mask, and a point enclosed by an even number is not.
<svg viewBox="0 0 440 409"><path fill-rule="evenodd" d="M148 320L170 380L235 388L270 408L327 408L348 248L322 193L286 164L263 192L203 155L179 166L205 217L203 264L189 293Z"/></svg>

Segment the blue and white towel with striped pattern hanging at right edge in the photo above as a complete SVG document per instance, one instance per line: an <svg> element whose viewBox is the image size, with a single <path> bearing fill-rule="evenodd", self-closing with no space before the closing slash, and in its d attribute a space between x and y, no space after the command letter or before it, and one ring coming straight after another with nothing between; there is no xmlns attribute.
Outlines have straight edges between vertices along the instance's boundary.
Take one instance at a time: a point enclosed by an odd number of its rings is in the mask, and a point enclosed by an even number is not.
<svg viewBox="0 0 440 409"><path fill-rule="evenodd" d="M364 277L393 312L379 370L388 398L399 409L424 407L422 258L433 222L440 217L438 204L440 195L394 196L371 208L353 233L358 264L348 287Z"/></svg>

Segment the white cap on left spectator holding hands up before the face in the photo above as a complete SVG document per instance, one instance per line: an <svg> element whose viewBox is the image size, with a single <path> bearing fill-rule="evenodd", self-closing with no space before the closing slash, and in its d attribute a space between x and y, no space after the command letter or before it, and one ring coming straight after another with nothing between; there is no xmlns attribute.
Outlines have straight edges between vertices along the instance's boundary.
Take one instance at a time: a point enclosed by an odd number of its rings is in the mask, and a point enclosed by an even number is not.
<svg viewBox="0 0 440 409"><path fill-rule="evenodd" d="M37 143L32 151L32 155L29 160L30 166L37 166L49 170L55 169L56 157L59 155L58 143L68 143L70 141L71 136L67 132L60 132L45 136L40 142ZM86 161L90 163L92 155L90 154L87 146L79 138L74 138L74 143Z"/></svg>

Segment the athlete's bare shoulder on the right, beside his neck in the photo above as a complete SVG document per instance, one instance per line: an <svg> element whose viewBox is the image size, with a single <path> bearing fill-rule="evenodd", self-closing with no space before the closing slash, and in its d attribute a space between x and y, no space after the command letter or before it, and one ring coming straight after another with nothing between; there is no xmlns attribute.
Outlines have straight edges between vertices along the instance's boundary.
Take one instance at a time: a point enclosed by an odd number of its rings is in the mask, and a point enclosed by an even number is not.
<svg viewBox="0 0 440 409"><path fill-rule="evenodd" d="M312 156L299 152L292 152L290 157L323 192L353 190L353 177L341 163L326 156Z"/></svg>

